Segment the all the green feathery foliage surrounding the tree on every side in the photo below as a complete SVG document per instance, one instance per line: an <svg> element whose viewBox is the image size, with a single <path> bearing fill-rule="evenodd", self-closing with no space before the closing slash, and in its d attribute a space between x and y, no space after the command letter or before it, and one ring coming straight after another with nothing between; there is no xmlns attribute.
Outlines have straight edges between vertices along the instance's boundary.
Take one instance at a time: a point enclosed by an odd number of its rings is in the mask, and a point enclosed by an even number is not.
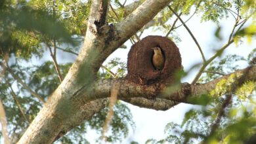
<svg viewBox="0 0 256 144"><path fill-rule="evenodd" d="M136 4L142 2L138 1ZM131 11L127 10L125 3L118 0L112 0L111 5L113 9L110 9L108 16L109 24L116 24L123 20ZM184 20L185 23L195 14L201 16L202 22L212 21L217 25L222 19L234 17L236 22L240 23L235 24L234 29L237 31L230 33L230 38L233 37L234 42L239 44L244 38L247 38L249 43L255 38L255 5L253 0L175 0L170 7L177 14L181 14L181 18L183 18L182 16L189 17ZM79 52L87 30L90 7L91 1L83 0L0 1L0 64L5 63L4 57L7 54L8 67L14 75L22 79L22 82L41 98L49 98L60 84L56 67L60 69L60 73L64 77L72 65L71 62L53 63L53 60L49 59L49 53L51 50L53 53L56 51L57 57L55 58L58 58L62 55L71 56L66 53L77 54L75 52ZM175 14L166 7L154 18L152 27L154 30L162 31L163 35L169 33L166 36L179 43L181 38L175 29L182 27L182 24L177 26L176 18ZM251 18L251 24L244 26L249 18ZM137 34L140 36L147 28L140 29L140 33ZM223 29L219 26L215 33L219 40L223 40L220 34L222 31ZM133 37L131 37L131 41L136 42ZM198 82L212 81L242 68L241 65L247 63L255 65L255 55L256 50L253 50L247 58L238 55L220 57L219 60L209 63ZM0 72L2 73L2 69ZM43 105L9 70L4 72L4 78L0 83L0 98L7 112L9 132L11 135L20 135ZM126 63L121 62L120 58L114 58L102 65L97 76L99 79L120 78L125 77L126 73ZM188 99L188 101L201 106L190 109L181 124L173 122L167 124L165 128L167 136L164 139L152 138L148 139L146 143L198 143L200 141L244 143L256 132L255 82L247 81L232 93L232 100L228 106L224 107L224 114L221 116L219 126L211 134L213 124L216 123L219 111L228 97L224 95L224 92L226 88L232 88L233 79L236 77L219 82L211 94ZM83 122L58 141L89 143L91 141L87 141L84 137L89 128L96 130L97 136L100 137L107 111L107 108L102 109L90 120ZM132 120L131 111L121 101L117 101L114 111L107 141L119 143L127 137L129 130L135 128L135 123Z"/></svg>

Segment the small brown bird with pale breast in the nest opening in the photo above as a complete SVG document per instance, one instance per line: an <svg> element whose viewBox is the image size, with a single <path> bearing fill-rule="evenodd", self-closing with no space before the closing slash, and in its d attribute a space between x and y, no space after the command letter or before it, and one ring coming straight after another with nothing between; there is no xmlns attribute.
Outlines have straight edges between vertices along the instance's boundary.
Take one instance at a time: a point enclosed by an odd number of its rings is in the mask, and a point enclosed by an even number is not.
<svg viewBox="0 0 256 144"><path fill-rule="evenodd" d="M165 58L163 56L163 53L161 52L160 47L154 47L152 49L154 50L154 54L152 57L153 65L154 65L155 69L160 71L161 69L163 69L163 65L165 63Z"/></svg>

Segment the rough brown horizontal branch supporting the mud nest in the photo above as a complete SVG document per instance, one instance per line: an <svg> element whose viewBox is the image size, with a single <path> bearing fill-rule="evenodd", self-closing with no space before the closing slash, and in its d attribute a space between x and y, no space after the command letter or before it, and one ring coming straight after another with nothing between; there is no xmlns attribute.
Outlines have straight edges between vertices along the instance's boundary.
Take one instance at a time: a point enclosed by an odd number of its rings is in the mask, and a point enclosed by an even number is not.
<svg viewBox="0 0 256 144"><path fill-rule="evenodd" d="M240 76L242 77L242 79L237 80L239 81L238 86L240 86L240 84L244 83L245 81L256 81L255 73L256 73L256 66L253 66L253 67L247 67L242 70L238 70L228 75L224 75L219 79L215 79L205 84L190 85L188 83L184 83L182 84L179 90L169 95L161 94L158 88L154 85L144 86L140 84L131 83L129 81L126 81L125 79L100 79L95 82L93 91L96 98L106 98L110 94L110 90L112 86L114 84L120 84L119 95L118 95L119 99L123 99L128 102L133 101L132 98L146 98L146 99L162 98L162 99L168 99L171 101L188 103L186 99L188 96L200 96L202 94L208 94L212 90L215 90L215 87L219 81L223 79L228 79L231 74L242 75ZM162 90L164 89L165 88L163 88ZM155 101L159 101L159 100L155 100ZM173 102L173 104L175 103ZM152 108L154 109L154 107Z"/></svg>

